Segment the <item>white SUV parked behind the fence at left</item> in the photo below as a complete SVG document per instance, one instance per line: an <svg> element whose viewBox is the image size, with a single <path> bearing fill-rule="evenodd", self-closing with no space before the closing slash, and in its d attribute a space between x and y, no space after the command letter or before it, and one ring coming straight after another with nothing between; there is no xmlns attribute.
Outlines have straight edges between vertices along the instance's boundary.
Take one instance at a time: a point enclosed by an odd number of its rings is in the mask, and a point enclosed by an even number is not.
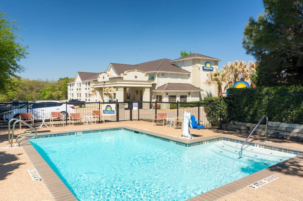
<svg viewBox="0 0 303 201"><path fill-rule="evenodd" d="M75 106L68 105L59 101L35 101L31 104L25 105L23 108L9 110L3 113L3 121L9 121L13 118L19 119L20 113L31 112L34 120L49 119L51 112L61 112L66 120L70 113L75 113Z"/></svg>

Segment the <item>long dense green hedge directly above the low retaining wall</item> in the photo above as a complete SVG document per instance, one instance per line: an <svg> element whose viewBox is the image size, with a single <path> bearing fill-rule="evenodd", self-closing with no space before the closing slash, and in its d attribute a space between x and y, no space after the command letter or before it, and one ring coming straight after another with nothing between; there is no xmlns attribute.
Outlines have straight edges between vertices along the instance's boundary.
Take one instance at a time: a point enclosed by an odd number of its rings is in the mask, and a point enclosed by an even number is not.
<svg viewBox="0 0 303 201"><path fill-rule="evenodd" d="M233 88L224 97L229 120L258 123L270 121L303 124L303 87Z"/></svg>

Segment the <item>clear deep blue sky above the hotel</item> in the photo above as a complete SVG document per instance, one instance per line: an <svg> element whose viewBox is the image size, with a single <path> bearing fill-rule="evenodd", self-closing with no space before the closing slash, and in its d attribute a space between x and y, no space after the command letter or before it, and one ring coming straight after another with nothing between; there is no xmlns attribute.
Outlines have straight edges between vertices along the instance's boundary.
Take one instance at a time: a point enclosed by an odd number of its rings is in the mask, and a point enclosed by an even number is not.
<svg viewBox="0 0 303 201"><path fill-rule="evenodd" d="M243 30L264 11L261 0L5 0L0 9L20 21L17 34L29 52L20 75L31 80L177 59L184 50L221 59L219 68L255 61L242 47Z"/></svg>

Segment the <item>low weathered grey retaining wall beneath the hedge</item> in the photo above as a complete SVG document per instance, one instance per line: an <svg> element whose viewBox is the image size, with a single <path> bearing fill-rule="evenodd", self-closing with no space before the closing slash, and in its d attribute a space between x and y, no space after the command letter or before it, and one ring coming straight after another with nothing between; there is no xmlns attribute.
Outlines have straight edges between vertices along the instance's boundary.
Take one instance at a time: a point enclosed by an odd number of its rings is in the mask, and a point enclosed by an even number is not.
<svg viewBox="0 0 303 201"><path fill-rule="evenodd" d="M250 133L256 125L255 123L231 121L230 123L222 123L222 129ZM258 125L254 134L265 136L265 128L266 124ZM303 142L303 125L269 121L267 136Z"/></svg>

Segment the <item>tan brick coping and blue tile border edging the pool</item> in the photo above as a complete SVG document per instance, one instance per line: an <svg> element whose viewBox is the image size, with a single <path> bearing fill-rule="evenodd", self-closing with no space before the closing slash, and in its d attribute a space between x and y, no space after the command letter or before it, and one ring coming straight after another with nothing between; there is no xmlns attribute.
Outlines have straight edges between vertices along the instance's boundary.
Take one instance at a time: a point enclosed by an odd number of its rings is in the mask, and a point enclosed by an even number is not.
<svg viewBox="0 0 303 201"><path fill-rule="evenodd" d="M109 127L104 129L81 129L81 130L71 130L65 133L62 132L51 132L48 134L38 134L37 138L45 138L45 137L55 137L55 136L67 136L67 135L74 135L75 132L82 132L82 134L89 133L89 132L105 132L105 131L113 131L113 130L128 130L130 132L135 132L141 135L153 137L160 140L165 140L167 142L176 143L183 146L195 146L200 144L205 144L209 142L215 142L218 140L226 140L230 142L242 143L245 141L244 138L229 136L225 134L219 134L216 136L210 137L202 137L202 138L194 138L194 139L181 139L174 136L166 136L159 133L143 130L143 129L136 129L128 126L117 126L117 127ZM221 187L215 188L198 196L188 199L189 201L199 201L199 200L216 200L220 199L230 193L233 193L237 190L247 187L248 185L258 182L266 177L269 177L277 172L282 171L283 169L289 167L290 165L298 164L302 159L303 155L299 155L303 153L302 148L296 148L291 146L280 145L271 142L264 142L256 140L255 142L247 142L248 145L261 145L262 148L268 148L276 151L281 152L288 152L292 151L294 154L298 156L278 163L274 166L269 168L263 169L258 171L254 174L248 175L243 177L239 180L233 181ZM43 182L45 183L46 187L52 194L53 198L57 201L66 200L66 201L74 201L78 200L72 192L66 187L66 185L62 182L62 180L55 174L52 168L45 162L45 160L40 156L40 154L35 150L28 140L22 142L22 147L25 150L25 153L28 155L28 158L42 177Z"/></svg>

